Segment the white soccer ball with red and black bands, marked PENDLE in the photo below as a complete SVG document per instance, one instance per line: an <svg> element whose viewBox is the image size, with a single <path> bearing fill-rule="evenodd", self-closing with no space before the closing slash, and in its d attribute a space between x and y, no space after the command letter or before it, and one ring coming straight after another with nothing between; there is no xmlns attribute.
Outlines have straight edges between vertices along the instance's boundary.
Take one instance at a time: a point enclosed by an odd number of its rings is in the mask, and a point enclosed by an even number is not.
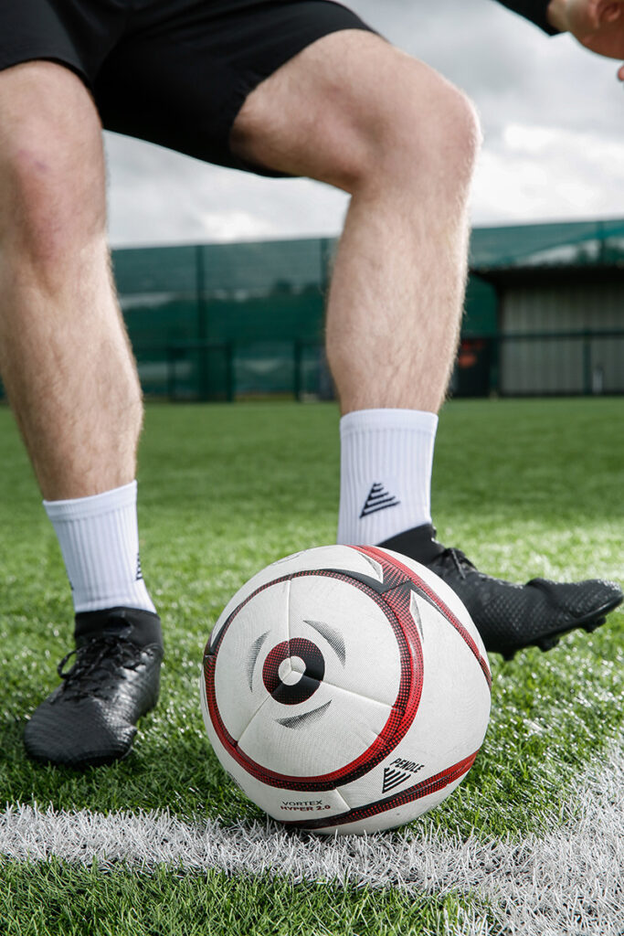
<svg viewBox="0 0 624 936"><path fill-rule="evenodd" d="M288 556L234 595L201 705L229 776L315 832L410 822L449 796L486 735L491 674L461 601L389 549Z"/></svg>

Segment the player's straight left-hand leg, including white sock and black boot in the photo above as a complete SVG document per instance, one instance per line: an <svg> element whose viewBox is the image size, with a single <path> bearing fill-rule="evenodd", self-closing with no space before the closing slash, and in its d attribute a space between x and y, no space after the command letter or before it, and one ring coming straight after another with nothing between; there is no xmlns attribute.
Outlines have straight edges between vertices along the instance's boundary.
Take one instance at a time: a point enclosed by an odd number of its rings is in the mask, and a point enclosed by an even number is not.
<svg viewBox="0 0 624 936"><path fill-rule="evenodd" d="M42 760L101 762L126 753L155 701L160 624L137 578L142 404L110 275L101 128L80 79L48 62L0 72L0 297L0 372L59 534L80 648L26 744ZM126 687L115 725L94 697L74 704L104 631Z"/></svg>

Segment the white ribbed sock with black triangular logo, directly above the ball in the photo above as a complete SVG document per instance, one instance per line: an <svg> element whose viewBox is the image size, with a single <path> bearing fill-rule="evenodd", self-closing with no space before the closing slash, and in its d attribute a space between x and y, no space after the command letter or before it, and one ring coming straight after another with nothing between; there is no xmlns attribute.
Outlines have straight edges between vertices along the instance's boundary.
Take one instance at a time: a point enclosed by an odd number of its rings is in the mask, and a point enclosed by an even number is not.
<svg viewBox="0 0 624 936"><path fill-rule="evenodd" d="M374 546L431 522L438 417L420 410L357 410L341 418L338 542Z"/></svg>

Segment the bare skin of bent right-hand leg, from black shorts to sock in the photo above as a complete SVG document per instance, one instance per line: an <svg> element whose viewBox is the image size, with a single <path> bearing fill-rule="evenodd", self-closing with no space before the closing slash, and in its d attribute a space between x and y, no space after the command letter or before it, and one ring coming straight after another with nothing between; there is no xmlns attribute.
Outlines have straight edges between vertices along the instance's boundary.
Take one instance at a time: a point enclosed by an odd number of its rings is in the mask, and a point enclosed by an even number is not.
<svg viewBox="0 0 624 936"><path fill-rule="evenodd" d="M479 130L447 81L383 39L320 39L239 113L245 158L351 193L327 308L343 413L437 412L457 350Z"/></svg>

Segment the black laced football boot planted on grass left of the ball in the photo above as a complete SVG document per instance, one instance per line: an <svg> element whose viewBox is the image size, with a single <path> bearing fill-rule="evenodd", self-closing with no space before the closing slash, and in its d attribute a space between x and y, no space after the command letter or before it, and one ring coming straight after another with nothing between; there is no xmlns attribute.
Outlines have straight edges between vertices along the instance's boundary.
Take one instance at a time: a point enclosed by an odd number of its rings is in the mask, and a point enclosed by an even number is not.
<svg viewBox="0 0 624 936"><path fill-rule="evenodd" d="M163 637L157 614L131 607L77 614L74 636L57 667L63 681L26 724L24 745L37 761L80 769L130 753L158 699Z"/></svg>

